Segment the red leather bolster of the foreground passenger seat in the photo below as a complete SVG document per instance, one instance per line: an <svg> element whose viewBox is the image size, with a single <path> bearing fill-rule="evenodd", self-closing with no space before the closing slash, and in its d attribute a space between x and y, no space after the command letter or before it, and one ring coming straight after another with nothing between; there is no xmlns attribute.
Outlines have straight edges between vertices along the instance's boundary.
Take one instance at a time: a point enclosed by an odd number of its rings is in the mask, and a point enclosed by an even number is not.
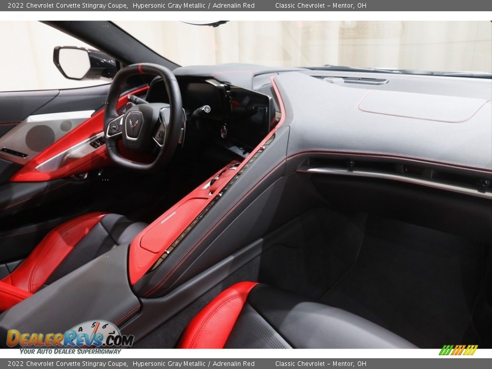
<svg viewBox="0 0 492 369"><path fill-rule="evenodd" d="M239 282L224 290L188 324L178 348L223 348L256 282Z"/></svg>

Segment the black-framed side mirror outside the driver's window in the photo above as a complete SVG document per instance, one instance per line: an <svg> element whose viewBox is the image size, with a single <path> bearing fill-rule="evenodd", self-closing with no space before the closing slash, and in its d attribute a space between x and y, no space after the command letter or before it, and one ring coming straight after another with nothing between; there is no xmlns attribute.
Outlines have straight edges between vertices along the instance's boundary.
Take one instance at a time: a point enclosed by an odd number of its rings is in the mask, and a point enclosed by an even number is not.
<svg viewBox="0 0 492 369"><path fill-rule="evenodd" d="M97 50L75 46L57 46L53 63L68 79L99 79L114 77L118 71L116 60Z"/></svg>

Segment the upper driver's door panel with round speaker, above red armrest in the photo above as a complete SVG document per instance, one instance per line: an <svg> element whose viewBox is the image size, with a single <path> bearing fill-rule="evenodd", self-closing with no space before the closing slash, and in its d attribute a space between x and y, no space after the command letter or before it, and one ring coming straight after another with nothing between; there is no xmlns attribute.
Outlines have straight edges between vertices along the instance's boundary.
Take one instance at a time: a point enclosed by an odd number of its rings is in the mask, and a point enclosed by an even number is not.
<svg viewBox="0 0 492 369"><path fill-rule="evenodd" d="M0 183L104 106L109 84L0 93ZM14 170L15 169L15 170ZM1 191L1 188L0 188Z"/></svg>

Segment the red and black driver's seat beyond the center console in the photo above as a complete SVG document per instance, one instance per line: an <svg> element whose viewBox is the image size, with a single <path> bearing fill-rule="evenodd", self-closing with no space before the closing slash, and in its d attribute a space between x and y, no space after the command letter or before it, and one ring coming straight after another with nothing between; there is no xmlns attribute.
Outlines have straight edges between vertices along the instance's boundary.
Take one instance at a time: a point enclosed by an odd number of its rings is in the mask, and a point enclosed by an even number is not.
<svg viewBox="0 0 492 369"><path fill-rule="evenodd" d="M145 227L122 215L89 213L54 228L0 280L0 312L117 245L130 243Z"/></svg>

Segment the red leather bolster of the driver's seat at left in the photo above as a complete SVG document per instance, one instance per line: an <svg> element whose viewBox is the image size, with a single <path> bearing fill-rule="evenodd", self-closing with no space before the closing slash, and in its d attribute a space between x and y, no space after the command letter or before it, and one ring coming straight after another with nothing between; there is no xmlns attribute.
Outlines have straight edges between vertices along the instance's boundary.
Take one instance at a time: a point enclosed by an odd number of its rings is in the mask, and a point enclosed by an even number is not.
<svg viewBox="0 0 492 369"><path fill-rule="evenodd" d="M75 245L105 215L104 213L81 215L54 228L22 264L5 277L2 282L9 283L31 294L36 292L73 250Z"/></svg>

